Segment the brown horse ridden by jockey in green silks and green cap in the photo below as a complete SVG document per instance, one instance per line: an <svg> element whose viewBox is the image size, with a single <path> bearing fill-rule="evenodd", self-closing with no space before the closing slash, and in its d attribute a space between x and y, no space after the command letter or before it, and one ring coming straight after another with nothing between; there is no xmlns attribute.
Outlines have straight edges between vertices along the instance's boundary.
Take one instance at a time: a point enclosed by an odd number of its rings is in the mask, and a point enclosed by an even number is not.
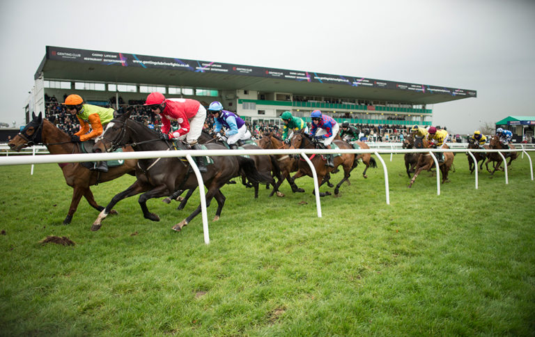
<svg viewBox="0 0 535 337"><path fill-rule="evenodd" d="M280 139L278 136L275 136L273 132L264 132L262 138L258 141L258 146L265 149L279 149L279 148L290 148L290 146L282 139ZM286 179L288 181L288 184L290 184L290 187L292 187L292 191L295 192L304 192L304 189L297 187L295 185L295 182L290 177L290 173L297 171L297 166L299 164L298 159L296 159L293 156L290 155L277 155L277 162L279 164L279 168L281 170L281 180L277 182L277 191L279 190L280 185L284 180ZM274 193L274 190L272 191L272 194ZM284 196L284 194L282 194Z"/></svg>

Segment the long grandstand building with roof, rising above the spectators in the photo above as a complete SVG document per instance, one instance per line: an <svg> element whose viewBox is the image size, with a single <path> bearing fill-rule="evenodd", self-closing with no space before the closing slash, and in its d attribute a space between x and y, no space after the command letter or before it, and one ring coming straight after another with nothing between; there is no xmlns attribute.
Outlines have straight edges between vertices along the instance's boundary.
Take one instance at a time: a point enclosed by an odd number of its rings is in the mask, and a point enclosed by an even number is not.
<svg viewBox="0 0 535 337"><path fill-rule="evenodd" d="M279 123L286 110L309 121L320 109L339 122L394 129L431 125L433 104L476 97L473 90L428 84L47 46L25 104L26 121L32 111L63 115L59 103L71 93L119 112L134 106L139 120L151 119L141 104L153 91L205 105L219 100L252 123ZM61 123L70 130L77 121Z"/></svg>

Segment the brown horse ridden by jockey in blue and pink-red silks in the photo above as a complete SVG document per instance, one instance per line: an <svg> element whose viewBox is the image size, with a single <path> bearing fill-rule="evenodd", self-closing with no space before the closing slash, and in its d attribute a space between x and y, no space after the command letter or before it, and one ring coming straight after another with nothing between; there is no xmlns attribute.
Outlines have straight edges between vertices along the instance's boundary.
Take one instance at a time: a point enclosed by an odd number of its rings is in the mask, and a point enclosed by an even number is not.
<svg viewBox="0 0 535 337"><path fill-rule="evenodd" d="M348 143L341 140L335 140L333 143L336 144L339 148L342 149L350 149L352 148ZM290 143L290 148L316 148L316 144L313 143L311 136L305 133L295 133L293 135L292 141ZM325 177L329 174L329 172L332 172L336 167L342 165L343 166L343 178L342 180L336 185L336 188L334 189L334 194L339 193L339 188L350 177L350 172L352 169L354 169L357 166L357 159L354 154L352 153L343 153L342 155L336 156L333 158L334 167L329 167L325 164L325 159L323 159L322 155L311 155L309 157L311 160L314 169L316 169L316 174L318 176L318 187L323 185L323 183L326 181ZM303 175L308 175L309 177L313 177L313 173L310 169L309 164L304 161L304 159L300 159L299 162L299 169L297 170L297 173L293 175L292 179L295 180L297 178L302 177ZM313 191L315 193L316 191ZM318 191L318 193L320 193ZM330 195L329 192L320 193L320 196L327 196Z"/></svg>

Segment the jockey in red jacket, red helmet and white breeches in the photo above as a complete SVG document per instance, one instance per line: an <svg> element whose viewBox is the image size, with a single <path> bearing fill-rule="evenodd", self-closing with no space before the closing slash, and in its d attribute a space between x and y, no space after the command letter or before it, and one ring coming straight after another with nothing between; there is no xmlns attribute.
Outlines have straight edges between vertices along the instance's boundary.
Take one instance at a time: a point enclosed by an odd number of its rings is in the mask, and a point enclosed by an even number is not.
<svg viewBox="0 0 535 337"><path fill-rule="evenodd" d="M180 141L186 139L192 149L202 150L198 139L206 119L206 109L199 101L184 98L166 100L162 93L155 92L148 94L144 105L148 105L153 113L160 116L160 120L162 120L161 139L178 139ZM171 120L176 120L180 126L178 130L170 132ZM195 157L195 163L199 167L199 171L207 171L201 157Z"/></svg>

